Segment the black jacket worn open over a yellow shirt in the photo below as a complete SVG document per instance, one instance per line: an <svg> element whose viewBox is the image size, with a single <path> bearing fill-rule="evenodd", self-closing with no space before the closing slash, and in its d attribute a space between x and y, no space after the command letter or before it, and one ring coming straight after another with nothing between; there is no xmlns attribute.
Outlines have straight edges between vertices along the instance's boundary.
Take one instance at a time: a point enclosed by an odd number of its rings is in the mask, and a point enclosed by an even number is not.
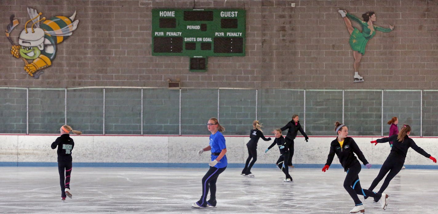
<svg viewBox="0 0 438 214"><path fill-rule="evenodd" d="M346 172L350 168L350 166L352 166L354 163L359 162L356 156L354 156L353 152L356 153L357 157L364 163L364 165L367 165L367 159L365 159L364 154L362 153L362 151L360 151L353 138L346 137L342 146L343 148L341 148L341 145L338 142L338 138L332 141L332 143L330 144L329 157L327 158L327 162L325 163L325 165L330 166L332 164L333 157L336 154L338 155L339 162Z"/></svg>

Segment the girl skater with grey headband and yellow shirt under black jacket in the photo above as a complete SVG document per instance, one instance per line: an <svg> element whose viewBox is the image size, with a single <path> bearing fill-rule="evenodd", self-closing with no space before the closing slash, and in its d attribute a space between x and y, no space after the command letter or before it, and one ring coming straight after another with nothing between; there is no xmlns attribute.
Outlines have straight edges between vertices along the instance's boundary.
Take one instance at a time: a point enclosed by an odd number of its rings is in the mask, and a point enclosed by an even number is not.
<svg viewBox="0 0 438 214"><path fill-rule="evenodd" d="M361 167L356 156L354 156L354 153L357 155L360 161L367 166L368 169L371 168L371 164L368 163L367 159L365 159L364 154L362 151L360 151L353 138L347 137L347 126L345 124L340 124L339 121L336 121L335 126L335 131L338 137L330 144L329 157L327 158L327 162L325 163L324 168L322 168L322 171L325 172L329 169L336 154L339 158L339 162L341 162L341 165L344 168L344 171L347 172L344 180L344 188L354 200L354 208L350 211L350 213L365 212L364 205L359 200L357 195L374 197L375 201L380 200L381 208L385 210L389 200L387 194L374 193L373 191L362 189L360 186L359 172Z"/></svg>

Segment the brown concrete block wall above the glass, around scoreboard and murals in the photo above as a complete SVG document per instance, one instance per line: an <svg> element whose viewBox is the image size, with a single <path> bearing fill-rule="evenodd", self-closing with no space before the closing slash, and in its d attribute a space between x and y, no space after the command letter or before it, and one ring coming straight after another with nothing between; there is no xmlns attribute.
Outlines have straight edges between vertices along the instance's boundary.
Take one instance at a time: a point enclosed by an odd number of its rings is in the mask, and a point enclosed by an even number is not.
<svg viewBox="0 0 438 214"><path fill-rule="evenodd" d="M291 7L295 3L295 7ZM14 14L28 21L27 7L45 17L70 16L78 29L57 45L53 65L39 79L11 56L11 44L0 40L0 86L167 87L167 79L190 88L258 89L437 89L438 3L424 0L71 0L2 1L0 20ZM153 8L239 8L246 10L246 56L210 57L208 71L190 72L189 58L151 55ZM337 8L360 17L374 11L381 27L360 62L364 83L353 82L349 33ZM353 23L355 25L355 23Z"/></svg>

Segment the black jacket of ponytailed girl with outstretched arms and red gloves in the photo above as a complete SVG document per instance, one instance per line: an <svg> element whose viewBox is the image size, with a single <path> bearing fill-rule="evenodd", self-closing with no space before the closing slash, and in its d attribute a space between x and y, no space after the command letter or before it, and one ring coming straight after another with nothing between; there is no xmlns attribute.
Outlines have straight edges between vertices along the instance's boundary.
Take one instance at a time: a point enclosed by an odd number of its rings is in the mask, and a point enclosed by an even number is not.
<svg viewBox="0 0 438 214"><path fill-rule="evenodd" d="M423 155L426 158L429 158L431 156L431 155L427 154L427 152L424 152L424 150L422 148L417 146L417 144L415 144L415 142L411 138L409 138L408 135L406 135L405 138L403 138L403 142L399 142L397 140L397 136L398 135L392 135L389 138L377 139L378 143L385 143L385 142L392 141L391 153L389 153L388 157L392 156L392 157L395 157L395 158L398 158L400 160L405 161L406 154L408 152L409 147L412 148L413 150L415 150L415 152L420 153L421 155Z"/></svg>

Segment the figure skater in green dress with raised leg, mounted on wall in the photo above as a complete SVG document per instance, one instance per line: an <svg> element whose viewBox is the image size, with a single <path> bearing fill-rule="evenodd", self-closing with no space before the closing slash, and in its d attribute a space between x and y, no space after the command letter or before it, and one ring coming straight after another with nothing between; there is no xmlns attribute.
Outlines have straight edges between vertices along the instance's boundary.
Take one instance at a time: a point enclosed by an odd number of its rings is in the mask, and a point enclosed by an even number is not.
<svg viewBox="0 0 438 214"><path fill-rule="evenodd" d="M353 49L353 57L354 57L354 83L363 82L364 78L359 75L359 63L360 59L362 59L362 55L365 55L365 47L367 46L368 40L376 35L377 31L382 32L390 32L394 29L394 26L389 25L389 28L381 28L373 24L376 21L376 14L372 11L368 11L362 14L362 18L364 21L355 17L352 14L347 13L345 10L338 10L339 14L343 17L345 24L347 26L348 32L350 33L350 46ZM362 31L359 31L357 28L353 28L351 25L351 21L356 21L360 24Z"/></svg>

